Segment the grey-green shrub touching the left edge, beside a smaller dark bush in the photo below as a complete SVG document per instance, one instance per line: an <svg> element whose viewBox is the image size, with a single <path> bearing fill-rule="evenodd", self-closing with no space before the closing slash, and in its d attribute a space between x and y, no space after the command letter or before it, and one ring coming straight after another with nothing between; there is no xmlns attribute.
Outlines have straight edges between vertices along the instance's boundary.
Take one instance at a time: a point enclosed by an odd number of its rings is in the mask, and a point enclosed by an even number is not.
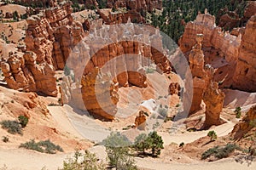
<svg viewBox="0 0 256 170"><path fill-rule="evenodd" d="M19 122L2 121L0 124L2 125L2 128L7 129L7 132L11 134L16 134L16 133L22 134L22 128Z"/></svg>

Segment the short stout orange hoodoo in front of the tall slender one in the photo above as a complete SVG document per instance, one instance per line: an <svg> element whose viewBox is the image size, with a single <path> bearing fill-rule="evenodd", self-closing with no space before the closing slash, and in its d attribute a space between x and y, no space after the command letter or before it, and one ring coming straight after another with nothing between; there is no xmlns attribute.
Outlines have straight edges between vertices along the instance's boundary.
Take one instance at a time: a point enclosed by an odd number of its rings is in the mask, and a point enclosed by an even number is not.
<svg viewBox="0 0 256 170"><path fill-rule="evenodd" d="M220 112L224 104L225 94L218 89L218 82L211 82L203 95L204 103L206 104L206 121L204 127L212 125L220 125Z"/></svg>

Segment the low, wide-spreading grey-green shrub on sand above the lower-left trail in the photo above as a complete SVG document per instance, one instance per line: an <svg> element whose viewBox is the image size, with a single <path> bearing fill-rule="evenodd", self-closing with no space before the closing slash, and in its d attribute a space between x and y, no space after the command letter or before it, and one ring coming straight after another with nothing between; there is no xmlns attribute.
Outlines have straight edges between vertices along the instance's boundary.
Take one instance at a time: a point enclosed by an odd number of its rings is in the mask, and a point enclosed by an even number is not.
<svg viewBox="0 0 256 170"><path fill-rule="evenodd" d="M29 142L20 144L20 148L26 148L27 150L36 150L38 152L55 154L56 150L63 152L60 145L53 144L51 141L44 140L40 142L35 142L34 139L31 139Z"/></svg>

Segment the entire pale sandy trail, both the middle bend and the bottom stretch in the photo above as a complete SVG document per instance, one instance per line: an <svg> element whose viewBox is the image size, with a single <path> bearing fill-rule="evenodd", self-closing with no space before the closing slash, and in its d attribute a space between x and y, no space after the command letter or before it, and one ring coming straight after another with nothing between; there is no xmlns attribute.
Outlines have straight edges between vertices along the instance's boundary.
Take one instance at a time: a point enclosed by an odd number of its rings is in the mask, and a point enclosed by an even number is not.
<svg viewBox="0 0 256 170"><path fill-rule="evenodd" d="M74 133L76 135L81 135L85 138L88 135L101 135L104 133L104 129L102 127L98 127L99 125L93 123L93 121L86 116L77 116L74 115L74 111L69 106L64 107L52 107L49 109L55 121L59 123L59 127L63 130L68 130L69 133ZM68 119L69 117L70 119ZM70 122L71 120L71 122ZM76 125L74 125L74 123ZM73 126L74 125L74 126ZM79 128L78 128L79 127ZM217 132L218 136L225 135L230 132L233 124L231 122L227 122L219 127L214 127L214 130ZM95 133L95 129L99 133ZM78 132L75 132L78 131ZM82 132L81 132L82 131ZM201 136L207 135L208 131L195 132L195 133L182 133L173 135L172 138L166 138L166 133L163 134L163 139L165 143L168 142L192 142L195 139L200 138ZM105 134L106 135L106 134ZM101 136L102 137L102 136ZM100 138L99 138L100 139ZM95 146L90 148L90 150L96 153L101 159L105 160L106 152L104 151L104 147ZM48 155L43 153L38 153L32 150L23 150L23 149L15 149L15 150L7 150L0 149L0 167L3 167L4 164L9 167L9 169L15 170L40 170L42 167L46 167L49 170L57 170L58 167L62 167L63 161L67 159L67 157L73 156L73 153L60 153L56 155ZM146 160L142 158L136 158L138 167L145 167L146 169L172 169L172 170L186 170L186 169L196 169L196 170L215 170L215 169L229 169L229 170L241 170L241 169L255 169L255 163L252 164L251 167L247 167L247 164L239 164L236 161L232 160L223 160L216 161L212 163L208 162L200 162L197 164L181 164L181 163L164 163L156 160Z"/></svg>

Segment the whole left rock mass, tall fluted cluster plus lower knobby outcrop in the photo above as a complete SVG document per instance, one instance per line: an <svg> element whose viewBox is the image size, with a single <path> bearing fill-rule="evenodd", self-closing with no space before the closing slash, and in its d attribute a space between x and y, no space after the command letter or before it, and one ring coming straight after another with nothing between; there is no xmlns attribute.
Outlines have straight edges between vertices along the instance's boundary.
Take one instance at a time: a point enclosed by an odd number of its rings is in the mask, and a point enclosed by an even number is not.
<svg viewBox="0 0 256 170"><path fill-rule="evenodd" d="M26 20L25 54L11 54L1 65L9 88L57 95L55 69L64 68L73 46L84 37L83 26L71 13L70 3L63 3Z"/></svg>

